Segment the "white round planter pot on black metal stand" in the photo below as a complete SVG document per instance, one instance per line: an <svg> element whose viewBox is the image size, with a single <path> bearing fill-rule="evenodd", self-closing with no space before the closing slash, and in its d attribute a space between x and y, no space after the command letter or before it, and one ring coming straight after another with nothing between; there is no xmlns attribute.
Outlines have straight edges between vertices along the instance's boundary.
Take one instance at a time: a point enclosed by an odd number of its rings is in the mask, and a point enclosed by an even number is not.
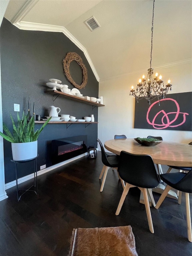
<svg viewBox="0 0 192 256"><path fill-rule="evenodd" d="M14 161L22 161L37 156L37 140L25 143L11 143Z"/></svg>

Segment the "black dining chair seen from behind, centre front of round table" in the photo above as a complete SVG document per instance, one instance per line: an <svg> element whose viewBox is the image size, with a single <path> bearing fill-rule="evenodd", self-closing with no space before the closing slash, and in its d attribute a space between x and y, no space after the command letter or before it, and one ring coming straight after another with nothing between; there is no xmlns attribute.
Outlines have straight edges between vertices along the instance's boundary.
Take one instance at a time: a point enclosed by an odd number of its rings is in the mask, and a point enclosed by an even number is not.
<svg viewBox="0 0 192 256"><path fill-rule="evenodd" d="M126 182L126 185L119 201L116 215L119 215L129 188L138 187L143 192L149 230L154 233L147 191L149 191L151 200L155 204L151 188L155 188L160 183L160 178L156 172L152 157L150 155L134 155L121 151L118 171L119 176Z"/></svg>

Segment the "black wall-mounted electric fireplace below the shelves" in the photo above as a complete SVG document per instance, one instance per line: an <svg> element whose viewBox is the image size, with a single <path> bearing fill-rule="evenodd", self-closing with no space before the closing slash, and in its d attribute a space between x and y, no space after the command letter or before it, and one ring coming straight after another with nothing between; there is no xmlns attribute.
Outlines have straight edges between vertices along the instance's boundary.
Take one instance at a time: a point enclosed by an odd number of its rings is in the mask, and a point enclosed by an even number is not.
<svg viewBox="0 0 192 256"><path fill-rule="evenodd" d="M52 140L52 164L57 164L67 159L73 158L87 152L87 136L80 135L75 137Z"/></svg>

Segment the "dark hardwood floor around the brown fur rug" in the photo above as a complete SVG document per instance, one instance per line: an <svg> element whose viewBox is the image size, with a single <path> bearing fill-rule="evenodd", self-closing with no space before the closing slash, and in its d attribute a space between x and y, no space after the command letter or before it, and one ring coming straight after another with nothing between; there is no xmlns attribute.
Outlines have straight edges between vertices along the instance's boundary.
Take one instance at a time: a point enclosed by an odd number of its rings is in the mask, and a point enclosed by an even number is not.
<svg viewBox="0 0 192 256"><path fill-rule="evenodd" d="M73 228L125 225L132 227L139 256L191 255L184 196L181 205L167 197L158 210L151 207L152 234L138 188L130 189L115 215L122 185L116 170L110 169L100 192L102 167L98 152L96 159L83 157L38 176L38 195L28 191L17 202L16 187L7 189L8 198L0 202L0 255L65 256ZM160 195L153 194L157 202Z"/></svg>

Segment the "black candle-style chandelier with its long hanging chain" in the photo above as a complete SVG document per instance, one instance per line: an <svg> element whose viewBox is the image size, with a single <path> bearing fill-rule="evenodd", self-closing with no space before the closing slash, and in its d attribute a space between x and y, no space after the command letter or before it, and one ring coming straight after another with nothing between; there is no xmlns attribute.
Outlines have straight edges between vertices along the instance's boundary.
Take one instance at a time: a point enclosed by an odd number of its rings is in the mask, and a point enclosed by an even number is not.
<svg viewBox="0 0 192 256"><path fill-rule="evenodd" d="M137 84L136 91L134 90L134 87L131 86L130 95L134 96L137 100L137 102L143 98L146 98L148 103L151 104L152 96L155 96L154 98L158 97L159 105L160 100L166 98L166 94L170 88L170 91L172 90L170 84L170 79L167 81L167 85L164 87L164 81L162 80L162 76L158 77L158 73L155 74L155 78L153 77L153 68L151 67L152 63L152 48L153 48L153 20L154 20L154 5L155 0L153 1L153 18L152 18L152 35L151 35L151 59L150 59L150 68L148 69L148 74L145 79L145 76L142 76L142 79L139 79L139 83Z"/></svg>

